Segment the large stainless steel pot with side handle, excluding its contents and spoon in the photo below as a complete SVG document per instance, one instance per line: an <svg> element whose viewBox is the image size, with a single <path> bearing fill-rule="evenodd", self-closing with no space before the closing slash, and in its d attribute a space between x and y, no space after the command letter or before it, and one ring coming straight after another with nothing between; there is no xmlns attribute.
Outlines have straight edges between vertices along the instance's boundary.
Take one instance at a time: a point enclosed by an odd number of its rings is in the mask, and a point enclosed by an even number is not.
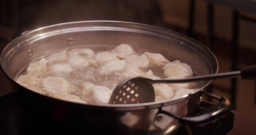
<svg viewBox="0 0 256 135"><path fill-rule="evenodd" d="M199 83L200 89L177 99L122 105L71 103L28 90L14 81L24 66L48 53L95 44L106 48L129 44L141 52L158 52L169 60L186 62L198 75L214 74L218 69L215 56L203 44L167 29L120 21L56 24L19 36L0 56L1 68L12 83L22 111L63 122L93 124L110 129L112 134L167 135L174 133L180 122L204 125L231 110L227 99L204 92L211 81ZM200 103L202 94L219 99L220 103L201 115L188 116Z"/></svg>

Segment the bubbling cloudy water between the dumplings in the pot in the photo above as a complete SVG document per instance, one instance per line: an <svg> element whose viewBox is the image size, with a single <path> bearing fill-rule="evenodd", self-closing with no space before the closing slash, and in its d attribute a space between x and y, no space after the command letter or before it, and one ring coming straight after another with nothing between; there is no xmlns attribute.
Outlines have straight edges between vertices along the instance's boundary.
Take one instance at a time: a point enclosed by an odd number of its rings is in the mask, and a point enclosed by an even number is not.
<svg viewBox="0 0 256 135"><path fill-rule="evenodd" d="M106 45L93 45L93 46L86 46L86 48L92 49L92 51L94 51L96 54L97 52L104 52L107 50L111 50L114 47L106 46ZM74 49L74 48L68 48L66 50L68 52L71 49ZM63 51L63 50L61 50L61 51ZM60 51L58 51L58 52L60 52ZM56 52L53 52L53 53L56 53ZM47 60L48 56L50 56L51 54L48 54L47 56L44 56L36 61L44 60L44 59ZM140 55L140 54L138 54L138 55ZM36 62L36 61L33 61L33 62ZM52 74L50 71L48 71L48 67L50 67L52 64L57 64L57 63L68 63L68 61L61 60L61 61L57 61L57 62L54 61L51 64L48 63L46 65L46 67L44 67L43 70L40 70L36 73L36 77L41 80L39 83L37 83L35 85L35 88L37 89L37 91L43 92L46 95L49 94L48 91L44 90L42 80L48 76L56 76L56 75ZM28 66L24 67L19 72L19 74L16 75L16 78L19 77L20 75L26 75L28 73L27 67ZM163 69L160 67L151 65L142 71L147 72L148 70L152 70L154 75L156 75L162 79L166 78L166 76L164 76ZM195 71L194 71L194 75L196 75ZM79 97L81 97L81 92L83 91L83 86L82 86L83 82L90 82L95 85L105 86L105 87L108 87L110 90L113 90L116 87L116 85L118 85L122 80L127 79L127 77L125 75L123 75L122 71L112 71L110 73L102 73L100 64L96 64L95 66L88 66L88 67L75 66L75 67L72 67L71 73L69 73L68 75L62 75L61 77L63 77L65 80L67 80L69 82L69 84L71 85L71 94L77 95ZM195 85L191 85L190 88L193 88L193 87L195 87Z"/></svg>

